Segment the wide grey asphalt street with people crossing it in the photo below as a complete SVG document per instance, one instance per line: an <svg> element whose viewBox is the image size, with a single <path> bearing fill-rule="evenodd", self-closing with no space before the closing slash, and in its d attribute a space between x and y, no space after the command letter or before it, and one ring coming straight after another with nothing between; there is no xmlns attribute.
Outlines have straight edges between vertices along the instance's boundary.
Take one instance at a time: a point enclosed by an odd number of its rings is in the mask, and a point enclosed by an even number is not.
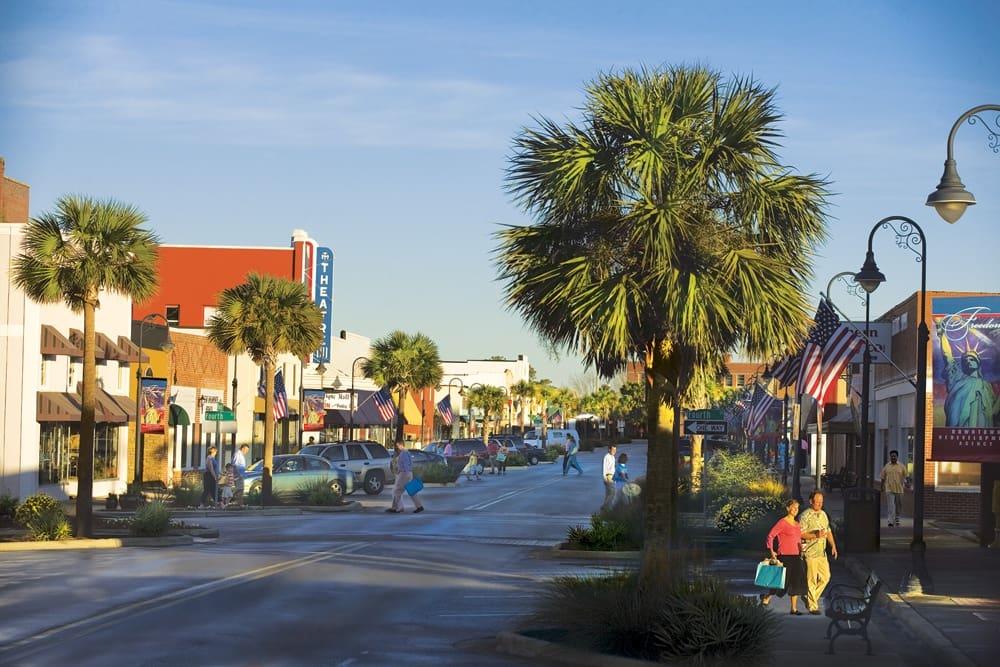
<svg viewBox="0 0 1000 667"><path fill-rule="evenodd" d="M634 475L645 447L620 448ZM2 665L518 665L493 650L544 582L621 567L553 556L603 498L553 465L424 489L427 510L199 517L187 547L4 553Z"/></svg>

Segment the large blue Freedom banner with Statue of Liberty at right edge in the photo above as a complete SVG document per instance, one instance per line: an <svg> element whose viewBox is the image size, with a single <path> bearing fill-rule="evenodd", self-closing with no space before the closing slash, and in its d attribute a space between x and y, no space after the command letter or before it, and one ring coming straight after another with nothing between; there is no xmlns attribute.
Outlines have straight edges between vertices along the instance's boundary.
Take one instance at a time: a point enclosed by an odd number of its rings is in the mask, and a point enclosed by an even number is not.
<svg viewBox="0 0 1000 667"><path fill-rule="evenodd" d="M1000 463L1000 295L931 300L931 459Z"/></svg>

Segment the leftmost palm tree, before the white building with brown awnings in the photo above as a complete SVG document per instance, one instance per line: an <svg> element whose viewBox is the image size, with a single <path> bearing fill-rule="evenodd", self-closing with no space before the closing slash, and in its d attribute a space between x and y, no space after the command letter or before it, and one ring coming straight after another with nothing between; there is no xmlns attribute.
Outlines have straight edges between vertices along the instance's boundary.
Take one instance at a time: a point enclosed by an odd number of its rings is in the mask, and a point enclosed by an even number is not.
<svg viewBox="0 0 1000 667"><path fill-rule="evenodd" d="M93 533L94 408L97 358L94 319L102 292L142 301L157 286L159 239L142 229L146 215L112 199L67 195L55 211L28 223L14 258L14 284L37 303L64 302L83 312L83 387L77 467L76 534ZM136 424L136 428L139 425Z"/></svg>

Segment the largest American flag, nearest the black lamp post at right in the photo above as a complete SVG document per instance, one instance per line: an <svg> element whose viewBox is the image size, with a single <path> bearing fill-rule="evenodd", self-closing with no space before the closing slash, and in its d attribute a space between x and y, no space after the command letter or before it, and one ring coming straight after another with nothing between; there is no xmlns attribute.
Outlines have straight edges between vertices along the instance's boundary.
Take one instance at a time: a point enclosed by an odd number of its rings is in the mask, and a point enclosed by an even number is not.
<svg viewBox="0 0 1000 667"><path fill-rule="evenodd" d="M827 390L837 381L844 366L861 349L864 341L840 318L824 299L816 311L816 321L805 348L797 383L799 393L809 394L823 405Z"/></svg>

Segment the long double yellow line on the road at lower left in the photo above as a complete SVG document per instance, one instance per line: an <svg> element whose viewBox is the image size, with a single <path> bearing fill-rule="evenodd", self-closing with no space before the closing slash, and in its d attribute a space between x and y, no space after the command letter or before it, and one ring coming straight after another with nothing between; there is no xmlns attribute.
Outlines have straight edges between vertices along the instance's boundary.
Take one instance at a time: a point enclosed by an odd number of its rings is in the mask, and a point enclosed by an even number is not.
<svg viewBox="0 0 1000 667"><path fill-rule="evenodd" d="M80 637L85 637L88 634L113 625L116 621L125 616L135 616L147 611L161 611L167 607L172 607L182 602L189 602L193 599L204 597L206 595L213 595L222 589L234 588L248 581L264 579L288 570L329 560L330 558L334 558L336 556L356 553L369 546L369 544L370 543L368 542L354 542L326 552L318 552L308 556L303 556L302 558L297 558L295 560L265 565L246 572L232 574L227 577L223 577L222 579L188 586L186 588L164 593L146 600L139 600L125 605L124 607L116 607L110 611L100 612L84 619L49 628L30 637L13 641L6 646L0 646L0 657L3 658L0 662L3 662L4 664L16 664L17 659L51 648L51 644L48 643L48 641L54 635L74 633L66 639L79 639ZM8 662L8 660L11 662Z"/></svg>

